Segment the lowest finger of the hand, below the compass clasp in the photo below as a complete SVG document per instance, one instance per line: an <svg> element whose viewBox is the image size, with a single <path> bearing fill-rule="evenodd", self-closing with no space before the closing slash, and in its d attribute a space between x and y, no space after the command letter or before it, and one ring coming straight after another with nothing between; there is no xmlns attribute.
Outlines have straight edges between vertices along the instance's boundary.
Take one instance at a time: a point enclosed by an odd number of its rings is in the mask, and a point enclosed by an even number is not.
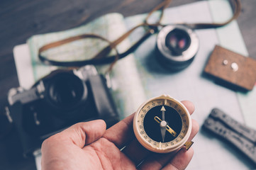
<svg viewBox="0 0 256 170"><path fill-rule="evenodd" d="M191 148L189 150L186 150L184 148L180 149L179 152L175 155L174 159L172 159L171 162L169 162L167 165L163 167L163 170L167 169L186 169L187 165L191 161L194 154L194 150Z"/></svg>

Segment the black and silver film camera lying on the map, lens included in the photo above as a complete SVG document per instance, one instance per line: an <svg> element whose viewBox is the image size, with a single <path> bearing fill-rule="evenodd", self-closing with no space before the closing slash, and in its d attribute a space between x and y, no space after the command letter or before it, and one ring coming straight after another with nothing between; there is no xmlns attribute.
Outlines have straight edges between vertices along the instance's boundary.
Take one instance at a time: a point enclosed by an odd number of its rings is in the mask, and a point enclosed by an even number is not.
<svg viewBox="0 0 256 170"><path fill-rule="evenodd" d="M108 128L119 120L106 79L91 65L55 70L29 90L11 89L8 99L25 155L74 123L103 119Z"/></svg>

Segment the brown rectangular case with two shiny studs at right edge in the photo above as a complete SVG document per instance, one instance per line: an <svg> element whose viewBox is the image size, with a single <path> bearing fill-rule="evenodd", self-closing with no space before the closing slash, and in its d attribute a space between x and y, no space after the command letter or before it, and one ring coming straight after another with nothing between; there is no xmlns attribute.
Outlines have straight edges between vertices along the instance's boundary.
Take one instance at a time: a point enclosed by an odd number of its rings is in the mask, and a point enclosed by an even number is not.
<svg viewBox="0 0 256 170"><path fill-rule="evenodd" d="M256 60L216 45L204 72L250 91L256 81Z"/></svg>

